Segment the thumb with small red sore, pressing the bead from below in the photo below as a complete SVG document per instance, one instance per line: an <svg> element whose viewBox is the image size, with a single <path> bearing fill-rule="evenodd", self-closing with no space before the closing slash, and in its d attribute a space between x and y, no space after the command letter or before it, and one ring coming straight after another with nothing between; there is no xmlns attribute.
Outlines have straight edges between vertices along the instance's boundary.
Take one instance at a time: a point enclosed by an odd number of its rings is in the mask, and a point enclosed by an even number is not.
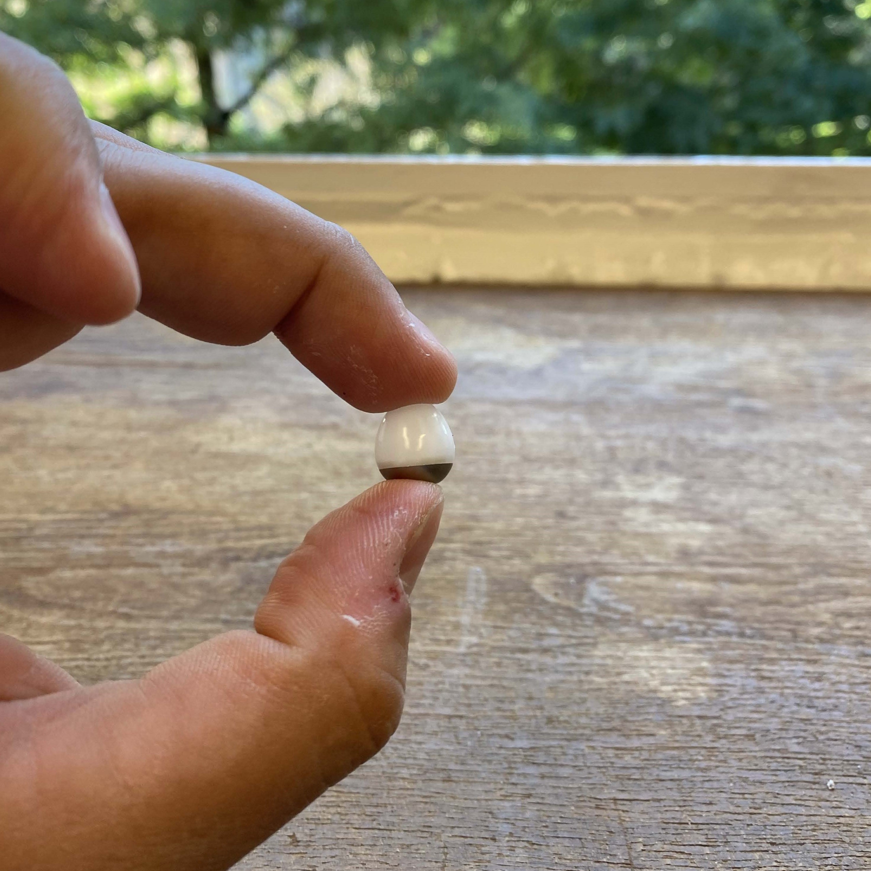
<svg viewBox="0 0 871 871"><path fill-rule="evenodd" d="M281 564L256 632L0 707L4 871L230 868L377 753L402 712L403 558L441 503L381 483Z"/></svg>

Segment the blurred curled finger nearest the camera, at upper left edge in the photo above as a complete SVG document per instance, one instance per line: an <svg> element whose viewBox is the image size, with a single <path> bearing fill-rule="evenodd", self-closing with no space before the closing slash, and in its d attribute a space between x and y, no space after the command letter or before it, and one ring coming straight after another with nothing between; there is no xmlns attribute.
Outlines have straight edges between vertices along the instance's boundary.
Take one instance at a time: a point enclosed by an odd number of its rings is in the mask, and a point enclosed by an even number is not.
<svg viewBox="0 0 871 871"><path fill-rule="evenodd" d="M78 98L47 58L0 33L0 289L71 323L136 307L138 270Z"/></svg>

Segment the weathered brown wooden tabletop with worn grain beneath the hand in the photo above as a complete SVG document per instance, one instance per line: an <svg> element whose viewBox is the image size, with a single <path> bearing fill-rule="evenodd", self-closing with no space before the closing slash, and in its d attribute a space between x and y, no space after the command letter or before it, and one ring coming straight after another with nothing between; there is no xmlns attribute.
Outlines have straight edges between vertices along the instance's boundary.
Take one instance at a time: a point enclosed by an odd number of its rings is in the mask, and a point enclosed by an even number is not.
<svg viewBox="0 0 871 871"><path fill-rule="evenodd" d="M240 868L871 867L871 299L407 296L462 376L405 718ZM0 628L97 680L249 625L375 425L141 318L3 375Z"/></svg>

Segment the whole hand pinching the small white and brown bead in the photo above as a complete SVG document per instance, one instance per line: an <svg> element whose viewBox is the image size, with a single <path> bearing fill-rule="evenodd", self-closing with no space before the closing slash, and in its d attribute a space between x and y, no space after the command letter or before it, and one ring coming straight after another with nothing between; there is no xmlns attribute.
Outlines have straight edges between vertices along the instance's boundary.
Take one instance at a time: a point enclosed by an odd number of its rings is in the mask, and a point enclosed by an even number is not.
<svg viewBox="0 0 871 871"><path fill-rule="evenodd" d="M3 34L0 118L0 369L138 306L206 341L274 331L357 408L450 394L454 361L347 233L88 125ZM254 631L139 680L82 687L0 636L4 871L228 868L376 753L441 513L430 484L368 490L280 565Z"/></svg>

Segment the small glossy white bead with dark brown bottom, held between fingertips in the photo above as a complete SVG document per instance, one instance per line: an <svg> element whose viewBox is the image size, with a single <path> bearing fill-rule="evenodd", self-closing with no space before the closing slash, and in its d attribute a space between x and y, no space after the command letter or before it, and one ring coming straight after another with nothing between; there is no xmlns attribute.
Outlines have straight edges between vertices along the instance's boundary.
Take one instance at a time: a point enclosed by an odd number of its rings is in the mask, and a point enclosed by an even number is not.
<svg viewBox="0 0 871 871"><path fill-rule="evenodd" d="M407 405L388 411L375 436L375 463L381 475L439 483L454 464L454 436L434 405Z"/></svg>

